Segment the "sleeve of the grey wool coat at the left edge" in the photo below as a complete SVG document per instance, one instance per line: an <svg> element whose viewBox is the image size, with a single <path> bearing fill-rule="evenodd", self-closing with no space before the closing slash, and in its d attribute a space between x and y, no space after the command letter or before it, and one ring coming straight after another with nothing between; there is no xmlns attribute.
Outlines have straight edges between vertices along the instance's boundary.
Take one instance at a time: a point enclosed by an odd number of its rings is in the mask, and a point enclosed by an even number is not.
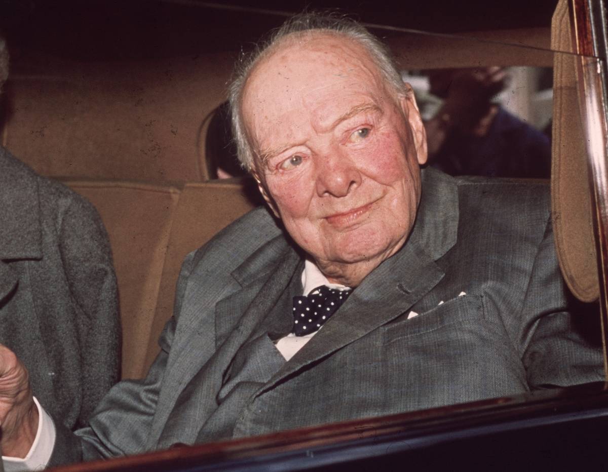
<svg viewBox="0 0 608 472"><path fill-rule="evenodd" d="M120 316L108 235L86 200L72 199L61 215L60 254L77 310L82 404L78 426L119 380Z"/></svg>

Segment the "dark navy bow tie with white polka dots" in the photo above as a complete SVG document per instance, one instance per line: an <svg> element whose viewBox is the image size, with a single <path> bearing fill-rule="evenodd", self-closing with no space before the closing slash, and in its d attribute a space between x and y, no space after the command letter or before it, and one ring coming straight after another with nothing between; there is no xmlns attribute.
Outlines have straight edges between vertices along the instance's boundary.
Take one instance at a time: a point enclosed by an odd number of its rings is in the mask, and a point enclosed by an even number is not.
<svg viewBox="0 0 608 472"><path fill-rule="evenodd" d="M322 285L309 295L294 296L294 334L314 333L336 313L353 290L337 290Z"/></svg>

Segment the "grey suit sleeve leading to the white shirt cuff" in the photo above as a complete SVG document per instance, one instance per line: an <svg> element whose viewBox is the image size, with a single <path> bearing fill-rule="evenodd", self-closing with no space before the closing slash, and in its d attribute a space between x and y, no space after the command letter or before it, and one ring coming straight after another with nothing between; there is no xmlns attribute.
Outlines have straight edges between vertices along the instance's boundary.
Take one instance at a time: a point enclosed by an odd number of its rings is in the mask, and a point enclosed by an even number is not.
<svg viewBox="0 0 608 472"><path fill-rule="evenodd" d="M176 307L192 270L193 255L188 255L178 279ZM81 460L142 453L146 449L151 424L157 409L167 358L173 343L176 309L161 334L161 352L143 380L123 380L102 399L89 420L89 426L71 433L55 421L57 440L49 467Z"/></svg>

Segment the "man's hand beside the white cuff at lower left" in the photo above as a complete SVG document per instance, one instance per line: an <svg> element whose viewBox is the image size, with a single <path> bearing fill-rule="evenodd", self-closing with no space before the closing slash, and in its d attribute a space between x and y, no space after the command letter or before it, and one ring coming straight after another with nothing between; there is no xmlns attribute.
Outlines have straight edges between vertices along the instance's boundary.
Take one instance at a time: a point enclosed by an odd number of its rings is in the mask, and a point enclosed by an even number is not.
<svg viewBox="0 0 608 472"><path fill-rule="evenodd" d="M27 370L8 347L0 344L0 428L2 455L25 457L38 429Z"/></svg>

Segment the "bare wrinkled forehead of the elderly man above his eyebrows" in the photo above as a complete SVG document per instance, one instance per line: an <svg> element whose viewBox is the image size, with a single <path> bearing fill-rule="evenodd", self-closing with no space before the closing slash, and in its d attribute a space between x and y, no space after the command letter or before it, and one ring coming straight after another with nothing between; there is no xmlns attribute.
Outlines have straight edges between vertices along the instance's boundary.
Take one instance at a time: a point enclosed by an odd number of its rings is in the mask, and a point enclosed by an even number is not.
<svg viewBox="0 0 608 472"><path fill-rule="evenodd" d="M243 120L255 138L257 123L289 110L316 118L349 95L382 95L382 74L367 49L332 32L293 33L272 47L249 75ZM293 118L293 115L290 115Z"/></svg>

